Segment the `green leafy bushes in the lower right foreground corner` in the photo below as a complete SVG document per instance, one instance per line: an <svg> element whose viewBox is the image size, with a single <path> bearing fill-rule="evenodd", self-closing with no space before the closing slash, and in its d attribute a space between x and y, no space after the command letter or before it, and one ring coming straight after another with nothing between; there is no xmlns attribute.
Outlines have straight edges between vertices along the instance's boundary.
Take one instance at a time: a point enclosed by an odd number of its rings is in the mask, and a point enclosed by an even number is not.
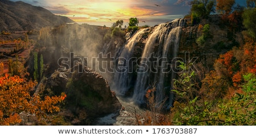
<svg viewBox="0 0 256 137"><path fill-rule="evenodd" d="M185 68L183 64L181 68ZM240 84L241 92L237 92L231 99L220 98L216 92L222 92L220 86L226 82L216 79L216 73L212 72L204 86L213 86L210 89L201 90L195 94L192 90L196 84L192 81L194 72L184 72L174 82L176 101L172 107L172 122L175 125L255 125L256 122L256 76L249 73L243 75L243 84ZM209 80L214 77L214 82ZM217 76L218 77L218 76ZM204 82L203 81L203 82ZM216 85L217 84L217 85ZM227 86L226 86L227 87ZM225 87L224 87L225 88ZM212 95L208 92L212 92ZM206 97L205 95L211 98Z"/></svg>

